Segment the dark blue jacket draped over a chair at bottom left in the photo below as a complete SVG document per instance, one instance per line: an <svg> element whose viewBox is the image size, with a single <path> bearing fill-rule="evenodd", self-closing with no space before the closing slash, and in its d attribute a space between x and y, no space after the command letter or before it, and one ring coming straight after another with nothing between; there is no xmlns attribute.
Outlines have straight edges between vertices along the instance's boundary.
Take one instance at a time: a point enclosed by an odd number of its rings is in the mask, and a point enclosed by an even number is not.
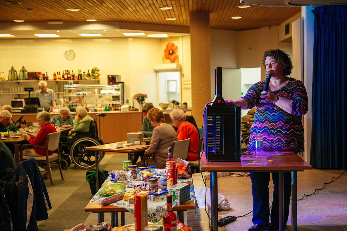
<svg viewBox="0 0 347 231"><path fill-rule="evenodd" d="M37 231L36 221L48 219L52 208L48 192L33 156L7 169L5 197L14 230Z"/></svg>

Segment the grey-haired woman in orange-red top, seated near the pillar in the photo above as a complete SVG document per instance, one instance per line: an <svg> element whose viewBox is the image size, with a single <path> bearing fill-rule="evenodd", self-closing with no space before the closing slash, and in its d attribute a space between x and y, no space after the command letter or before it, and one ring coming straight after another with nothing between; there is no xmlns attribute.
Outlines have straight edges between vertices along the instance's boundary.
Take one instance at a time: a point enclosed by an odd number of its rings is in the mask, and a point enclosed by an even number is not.
<svg viewBox="0 0 347 231"><path fill-rule="evenodd" d="M199 146L199 134L195 128L195 126L188 121L186 121L186 113L183 110L174 109L170 112L170 118L172 123L174 123L175 127L177 127L177 139L185 140L191 138L191 145L189 147L188 152L188 160L193 161L197 160L198 154L193 152L197 152ZM193 151L193 152L191 152Z"/></svg>

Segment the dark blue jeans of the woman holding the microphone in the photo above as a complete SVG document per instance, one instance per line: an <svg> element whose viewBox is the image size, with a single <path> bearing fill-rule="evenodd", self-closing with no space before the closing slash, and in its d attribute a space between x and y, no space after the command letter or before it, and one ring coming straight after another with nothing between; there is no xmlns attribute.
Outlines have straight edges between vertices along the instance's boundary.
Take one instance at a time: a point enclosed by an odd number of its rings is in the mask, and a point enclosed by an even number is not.
<svg viewBox="0 0 347 231"><path fill-rule="evenodd" d="M271 207L271 223L278 224L278 172L272 173L273 197ZM253 224L269 224L269 182L270 172L249 172L252 180ZM284 172L284 223L288 221L291 194L291 172Z"/></svg>

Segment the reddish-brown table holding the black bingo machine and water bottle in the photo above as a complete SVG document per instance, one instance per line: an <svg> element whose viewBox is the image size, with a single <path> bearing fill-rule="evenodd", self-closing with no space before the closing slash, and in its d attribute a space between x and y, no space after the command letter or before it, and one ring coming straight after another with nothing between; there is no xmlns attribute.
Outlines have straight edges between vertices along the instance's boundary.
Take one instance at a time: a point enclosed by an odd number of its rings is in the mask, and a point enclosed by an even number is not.
<svg viewBox="0 0 347 231"><path fill-rule="evenodd" d="M217 172L277 171L279 230L283 230L283 173L291 171L291 230L297 230L297 172L312 169L312 166L294 152L281 152L283 156L270 156L273 163L267 166L242 166L241 162L207 162L205 153L201 155L201 171L210 172L212 230L218 231L218 183Z"/></svg>

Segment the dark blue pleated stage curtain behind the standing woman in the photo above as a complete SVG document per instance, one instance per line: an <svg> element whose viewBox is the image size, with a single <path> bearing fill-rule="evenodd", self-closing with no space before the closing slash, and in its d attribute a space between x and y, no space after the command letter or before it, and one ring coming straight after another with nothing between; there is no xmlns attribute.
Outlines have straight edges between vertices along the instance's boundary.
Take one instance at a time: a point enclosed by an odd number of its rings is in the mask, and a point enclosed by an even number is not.
<svg viewBox="0 0 347 231"><path fill-rule="evenodd" d="M310 164L346 169L347 6L316 7Z"/></svg>

